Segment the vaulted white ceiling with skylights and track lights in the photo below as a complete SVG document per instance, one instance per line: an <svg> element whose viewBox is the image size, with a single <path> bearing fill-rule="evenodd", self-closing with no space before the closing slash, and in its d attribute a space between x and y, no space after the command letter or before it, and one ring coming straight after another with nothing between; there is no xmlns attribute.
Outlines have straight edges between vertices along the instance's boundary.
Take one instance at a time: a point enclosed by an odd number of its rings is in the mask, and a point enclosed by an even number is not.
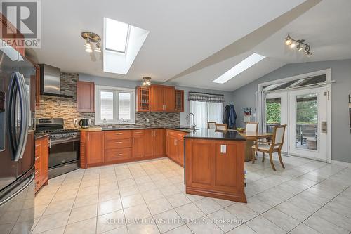
<svg viewBox="0 0 351 234"><path fill-rule="evenodd" d="M307 3L309 6L298 8L299 4L306 2L310 2ZM350 30L346 30L351 22L347 12L350 1L318 2L45 0L41 1L41 49L29 53L39 63L60 67L65 72L128 80L151 76L157 82L176 77L171 82L232 91L286 63L350 58ZM294 11L294 8L298 10ZM280 22L290 21L280 25L274 23L274 19L284 14L287 16ZM89 30L102 37L104 17L150 31L126 75L102 72L102 55L94 54L95 58L91 58L84 51L84 40L80 33ZM269 35L258 33L265 28L270 32ZM255 32L258 33L257 39L250 37L256 35ZM286 51L284 37L287 33L298 39L306 39L312 45L314 55L307 59ZM249 38L246 45L242 40L245 37ZM241 49L233 53L233 47L232 51L226 51L226 57L219 60L213 57L232 44L241 45ZM212 83L213 79L253 52L267 58L230 82ZM204 66L196 67L201 62L204 62ZM195 69L186 74L185 71L194 66Z"/></svg>

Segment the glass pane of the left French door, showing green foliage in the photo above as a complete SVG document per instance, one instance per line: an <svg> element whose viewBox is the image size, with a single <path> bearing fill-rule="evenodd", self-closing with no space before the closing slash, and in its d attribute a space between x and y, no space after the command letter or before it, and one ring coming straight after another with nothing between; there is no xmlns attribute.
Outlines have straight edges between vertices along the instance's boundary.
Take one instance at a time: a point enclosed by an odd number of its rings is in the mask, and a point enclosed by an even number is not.
<svg viewBox="0 0 351 234"><path fill-rule="evenodd" d="M274 126L279 125L282 121L282 98L266 99L266 132L273 132Z"/></svg>

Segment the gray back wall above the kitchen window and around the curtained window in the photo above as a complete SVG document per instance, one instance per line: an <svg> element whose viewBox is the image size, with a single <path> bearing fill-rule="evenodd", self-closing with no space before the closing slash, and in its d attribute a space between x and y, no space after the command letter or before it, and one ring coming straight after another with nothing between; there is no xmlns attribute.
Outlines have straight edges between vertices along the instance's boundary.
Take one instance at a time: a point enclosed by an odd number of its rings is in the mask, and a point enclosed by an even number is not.
<svg viewBox="0 0 351 234"><path fill-rule="evenodd" d="M79 74L79 80L86 81L86 82L94 82L97 85L105 85L105 86L116 86L116 87L123 87L123 88L135 88L136 86L141 84L140 82L135 81L128 81L125 79L113 79L107 77L95 77L89 74ZM174 85L172 83L168 83L167 85ZM180 113L180 125L190 125L190 122L187 122L185 117L190 112L190 105L189 101L187 100L187 95L189 91L196 91L196 92L203 92L203 93L216 93L216 94L223 94L225 96L225 104L230 103L233 101L233 93L226 92L226 91L216 91L216 90L208 90L208 89L196 89L184 86L176 86L176 89L184 90L184 112Z"/></svg>

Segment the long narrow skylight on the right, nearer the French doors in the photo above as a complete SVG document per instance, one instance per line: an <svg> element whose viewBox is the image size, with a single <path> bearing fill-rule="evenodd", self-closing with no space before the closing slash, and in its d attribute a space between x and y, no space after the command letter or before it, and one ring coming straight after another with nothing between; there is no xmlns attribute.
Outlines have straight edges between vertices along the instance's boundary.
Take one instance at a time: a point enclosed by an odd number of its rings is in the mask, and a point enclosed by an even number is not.
<svg viewBox="0 0 351 234"><path fill-rule="evenodd" d="M225 72L225 74L215 79L213 83L224 84L228 80L236 77L241 72L244 72L244 70L247 70L253 65L255 65L256 63L260 62L260 60L263 60L263 58L265 58L265 56L261 56L258 53L253 53L251 54L251 56L245 58L240 63L232 67L232 69Z"/></svg>

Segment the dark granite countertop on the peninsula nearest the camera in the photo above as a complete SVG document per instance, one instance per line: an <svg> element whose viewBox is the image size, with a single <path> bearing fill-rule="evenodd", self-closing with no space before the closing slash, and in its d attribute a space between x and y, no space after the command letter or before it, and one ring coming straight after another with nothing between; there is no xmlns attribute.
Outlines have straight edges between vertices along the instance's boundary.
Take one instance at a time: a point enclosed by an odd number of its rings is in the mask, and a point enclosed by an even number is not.
<svg viewBox="0 0 351 234"><path fill-rule="evenodd" d="M190 131L184 138L199 138L212 140L246 141L237 131L216 131L215 129L199 129Z"/></svg>

